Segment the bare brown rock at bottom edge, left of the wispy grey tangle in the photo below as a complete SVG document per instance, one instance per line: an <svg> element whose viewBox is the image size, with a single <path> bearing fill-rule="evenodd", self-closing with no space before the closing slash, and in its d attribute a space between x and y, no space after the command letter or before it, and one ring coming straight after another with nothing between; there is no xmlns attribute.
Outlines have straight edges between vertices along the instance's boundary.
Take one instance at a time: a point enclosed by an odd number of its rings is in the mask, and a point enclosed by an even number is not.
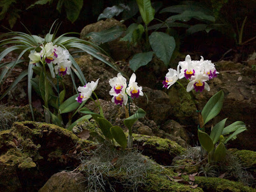
<svg viewBox="0 0 256 192"><path fill-rule="evenodd" d="M54 174L38 192L84 191L86 183L81 173L60 172Z"/></svg>

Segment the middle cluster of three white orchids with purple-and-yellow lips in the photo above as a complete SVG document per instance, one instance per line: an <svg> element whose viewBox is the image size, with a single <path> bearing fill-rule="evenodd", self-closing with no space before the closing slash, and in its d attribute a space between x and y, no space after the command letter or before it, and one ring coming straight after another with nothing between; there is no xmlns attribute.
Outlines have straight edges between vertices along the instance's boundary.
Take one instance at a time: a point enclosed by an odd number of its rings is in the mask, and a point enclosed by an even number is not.
<svg viewBox="0 0 256 192"><path fill-rule="evenodd" d="M110 86L112 89L110 90L110 95L113 96L112 102L115 102L119 105L126 105L128 101L128 96L131 98L138 98L139 96L143 96L142 87L138 87L138 83L135 82L136 75L132 74L128 87L126 84L126 78L121 75L121 73L117 74L117 77L110 79Z"/></svg>

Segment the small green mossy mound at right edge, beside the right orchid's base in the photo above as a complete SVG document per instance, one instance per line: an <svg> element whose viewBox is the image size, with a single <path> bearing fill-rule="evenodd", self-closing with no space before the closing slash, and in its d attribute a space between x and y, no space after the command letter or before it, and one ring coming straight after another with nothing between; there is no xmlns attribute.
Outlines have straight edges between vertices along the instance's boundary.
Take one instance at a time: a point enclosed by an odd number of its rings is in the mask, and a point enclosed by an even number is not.
<svg viewBox="0 0 256 192"><path fill-rule="evenodd" d="M237 156L241 164L245 167L252 167L256 165L256 152L249 151L249 150L237 150L237 149L230 149L231 153L234 156Z"/></svg>

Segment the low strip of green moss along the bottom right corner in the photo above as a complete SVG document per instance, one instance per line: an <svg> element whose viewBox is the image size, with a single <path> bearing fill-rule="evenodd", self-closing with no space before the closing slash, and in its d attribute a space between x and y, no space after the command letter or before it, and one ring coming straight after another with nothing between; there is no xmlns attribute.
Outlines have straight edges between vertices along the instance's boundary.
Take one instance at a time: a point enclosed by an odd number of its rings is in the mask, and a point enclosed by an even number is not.
<svg viewBox="0 0 256 192"><path fill-rule="evenodd" d="M188 180L188 176L184 176ZM253 189L248 186L244 186L241 182L229 181L227 179L221 179L216 177L195 177L195 184L199 186L204 191L218 191L218 192L255 192L256 189Z"/></svg>

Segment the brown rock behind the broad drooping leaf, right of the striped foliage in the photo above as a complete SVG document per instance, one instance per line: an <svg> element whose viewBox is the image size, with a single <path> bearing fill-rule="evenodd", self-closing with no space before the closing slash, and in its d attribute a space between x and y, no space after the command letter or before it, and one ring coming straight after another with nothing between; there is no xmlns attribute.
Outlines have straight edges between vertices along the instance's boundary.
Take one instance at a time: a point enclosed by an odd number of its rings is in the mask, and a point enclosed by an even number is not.
<svg viewBox="0 0 256 192"><path fill-rule="evenodd" d="M90 38L87 37L87 34L89 34L90 32L101 32L115 26L123 28L124 31L126 30L125 25L121 24L118 20L114 18L107 18L106 20L100 20L95 24L90 24L84 27L81 31L80 38L90 40ZM124 33L122 37L123 36ZM131 46L129 46L129 43L127 41L120 41L120 38L117 38L110 42L106 42L104 50L109 52L114 60L126 59L132 54Z"/></svg>

